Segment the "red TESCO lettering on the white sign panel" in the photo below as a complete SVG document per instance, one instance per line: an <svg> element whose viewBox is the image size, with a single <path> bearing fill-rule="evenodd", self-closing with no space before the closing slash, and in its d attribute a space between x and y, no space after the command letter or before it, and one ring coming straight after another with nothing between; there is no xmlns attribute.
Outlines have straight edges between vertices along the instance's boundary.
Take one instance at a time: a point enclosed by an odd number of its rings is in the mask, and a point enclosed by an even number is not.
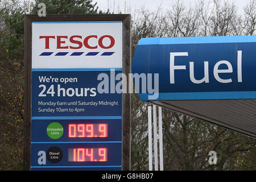
<svg viewBox="0 0 256 182"><path fill-rule="evenodd" d="M51 39L56 40L57 49L81 49L82 47L88 49L97 49L98 47L102 49L112 48L115 44L115 39L111 35L103 35L98 37L97 35L89 35L84 39L81 35L68 36L39 36L39 39L44 39L44 48L49 49L53 45L49 45ZM108 41L104 41L107 40ZM96 42L96 43L95 43ZM106 44L106 42L108 44ZM110 43L109 43L110 42ZM105 43L105 44L104 44Z"/></svg>

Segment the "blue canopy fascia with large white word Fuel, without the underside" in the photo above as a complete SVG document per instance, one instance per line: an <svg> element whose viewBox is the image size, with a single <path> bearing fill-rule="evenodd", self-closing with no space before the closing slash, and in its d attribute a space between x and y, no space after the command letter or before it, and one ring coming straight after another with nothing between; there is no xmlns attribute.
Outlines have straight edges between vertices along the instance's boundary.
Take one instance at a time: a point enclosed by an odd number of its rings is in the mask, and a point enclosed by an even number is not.
<svg viewBox="0 0 256 182"><path fill-rule="evenodd" d="M143 38L133 73L159 74L158 97L141 100L256 98L256 36Z"/></svg>

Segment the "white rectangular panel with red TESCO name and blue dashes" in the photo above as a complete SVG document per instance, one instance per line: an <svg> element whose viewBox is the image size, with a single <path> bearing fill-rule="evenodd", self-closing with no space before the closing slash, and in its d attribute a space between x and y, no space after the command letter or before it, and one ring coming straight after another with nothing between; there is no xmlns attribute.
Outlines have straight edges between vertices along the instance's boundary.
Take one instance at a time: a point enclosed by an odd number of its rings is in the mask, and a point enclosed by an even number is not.
<svg viewBox="0 0 256 182"><path fill-rule="evenodd" d="M122 22L33 22L32 30L32 68L122 68Z"/></svg>

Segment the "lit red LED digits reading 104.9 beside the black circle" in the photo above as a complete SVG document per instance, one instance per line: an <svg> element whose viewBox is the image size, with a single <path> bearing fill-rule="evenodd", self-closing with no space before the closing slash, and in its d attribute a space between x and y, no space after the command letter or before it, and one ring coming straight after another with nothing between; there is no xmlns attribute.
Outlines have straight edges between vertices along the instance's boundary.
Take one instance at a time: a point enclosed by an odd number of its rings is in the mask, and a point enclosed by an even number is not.
<svg viewBox="0 0 256 182"><path fill-rule="evenodd" d="M69 162L106 162L107 148L69 148Z"/></svg>

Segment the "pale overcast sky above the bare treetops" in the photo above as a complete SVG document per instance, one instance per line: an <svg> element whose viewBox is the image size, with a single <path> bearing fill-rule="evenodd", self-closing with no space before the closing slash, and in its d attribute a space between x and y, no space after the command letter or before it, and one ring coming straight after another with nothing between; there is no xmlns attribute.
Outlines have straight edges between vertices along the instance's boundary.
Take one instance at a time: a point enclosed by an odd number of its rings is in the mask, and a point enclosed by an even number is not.
<svg viewBox="0 0 256 182"><path fill-rule="evenodd" d="M176 0L93 0L93 2L97 2L97 5L100 10L106 11L108 7L111 11L114 10L114 13L117 13L117 10L125 12L125 1L126 1L126 13L133 13L134 10L139 9L140 7L144 6L148 9L155 10L162 2L162 8L167 9L172 6L173 2ZM191 3L191 5L195 5L198 0L183 0L184 2ZM224 1L224 0L220 0ZM238 14L243 13L243 8L246 6L250 0L226 0L230 3L234 2L238 8ZM205 2L213 2L213 0L205 0ZM128 12L127 12L128 10ZM129 10L131 12L129 12Z"/></svg>

